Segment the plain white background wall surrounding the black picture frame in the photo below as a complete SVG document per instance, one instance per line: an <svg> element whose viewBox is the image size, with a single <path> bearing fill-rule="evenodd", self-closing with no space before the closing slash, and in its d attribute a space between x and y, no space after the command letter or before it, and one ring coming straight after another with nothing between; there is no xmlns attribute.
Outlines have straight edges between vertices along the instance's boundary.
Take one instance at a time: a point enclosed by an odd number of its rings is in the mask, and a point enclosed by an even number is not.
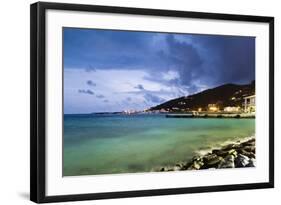
<svg viewBox="0 0 281 205"><path fill-rule="evenodd" d="M52 1L52 0L49 0ZM0 204L31 204L29 198L29 4L2 1L0 6ZM61 1L81 3L82 1ZM281 13L278 1L260 0L84 0L86 4L189 10L275 17L275 52L280 54ZM281 87L280 58L275 60L275 88ZM275 92L275 104L281 104ZM276 106L276 125L281 123ZM277 127L277 126L276 126ZM281 191L281 129L275 131L276 188L177 196L72 202L69 204L266 204L277 201Z"/></svg>

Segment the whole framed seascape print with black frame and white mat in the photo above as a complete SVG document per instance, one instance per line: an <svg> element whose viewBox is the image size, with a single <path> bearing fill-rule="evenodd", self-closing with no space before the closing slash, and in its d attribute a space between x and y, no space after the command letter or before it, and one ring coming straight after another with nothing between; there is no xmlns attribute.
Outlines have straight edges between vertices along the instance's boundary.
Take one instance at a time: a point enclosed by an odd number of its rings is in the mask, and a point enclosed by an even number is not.
<svg viewBox="0 0 281 205"><path fill-rule="evenodd" d="M274 186L274 18L31 5L34 202Z"/></svg>

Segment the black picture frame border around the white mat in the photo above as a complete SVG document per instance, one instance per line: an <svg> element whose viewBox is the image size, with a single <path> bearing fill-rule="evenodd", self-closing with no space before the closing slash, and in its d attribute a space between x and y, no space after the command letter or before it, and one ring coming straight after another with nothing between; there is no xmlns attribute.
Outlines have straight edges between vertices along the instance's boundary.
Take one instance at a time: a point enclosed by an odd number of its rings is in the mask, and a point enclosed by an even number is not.
<svg viewBox="0 0 281 205"><path fill-rule="evenodd" d="M89 193L60 196L46 196L46 128L45 128L45 26L46 10L86 11L121 13L130 15L168 16L195 19L216 19L231 21L262 22L269 24L269 181L263 183L203 186L192 188L169 188L158 190L138 190L106 193ZM123 197L141 197L198 192L260 189L274 187L274 18L156 10L144 8L110 7L82 4L38 2L30 7L30 200L37 203L76 200L96 200Z"/></svg>

